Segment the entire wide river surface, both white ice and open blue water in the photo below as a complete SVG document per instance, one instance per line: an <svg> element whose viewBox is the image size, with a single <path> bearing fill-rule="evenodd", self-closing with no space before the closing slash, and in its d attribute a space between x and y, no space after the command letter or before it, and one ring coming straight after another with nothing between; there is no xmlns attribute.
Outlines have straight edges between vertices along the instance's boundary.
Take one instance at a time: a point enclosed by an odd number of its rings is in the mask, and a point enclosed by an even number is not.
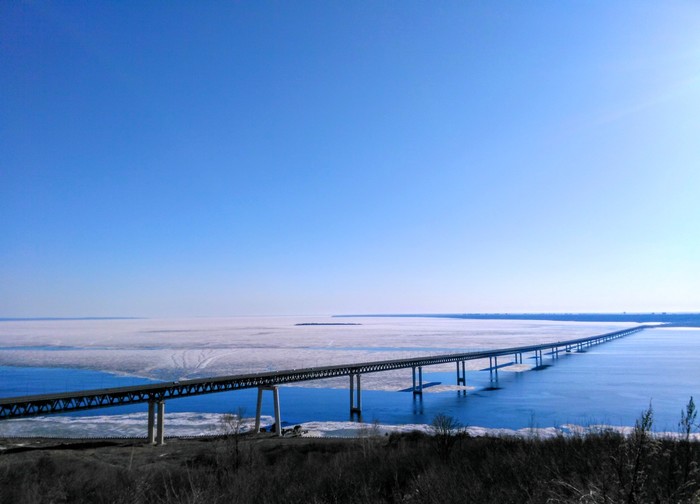
<svg viewBox="0 0 700 504"><path fill-rule="evenodd" d="M352 322L358 325L322 325ZM321 325L297 325L321 324ZM100 388L274 369L385 360L572 339L629 323L435 318L274 317L191 320L0 322L0 395ZM656 427L675 430L700 383L700 330L653 329L551 362L504 368L489 390L483 362L468 362L468 393L454 365L426 368L440 385L413 400L410 370L363 377L365 421L412 428L446 413L474 430L633 425L650 401ZM545 359L545 364L549 363ZM517 371L516 371L517 370ZM320 432L353 428L347 380L284 387L283 421ZM255 391L172 400L170 434L211 433L222 413L255 409ZM267 413L270 405L266 404ZM1 435L144 435L145 406L0 423ZM390 427L387 427L390 428Z"/></svg>

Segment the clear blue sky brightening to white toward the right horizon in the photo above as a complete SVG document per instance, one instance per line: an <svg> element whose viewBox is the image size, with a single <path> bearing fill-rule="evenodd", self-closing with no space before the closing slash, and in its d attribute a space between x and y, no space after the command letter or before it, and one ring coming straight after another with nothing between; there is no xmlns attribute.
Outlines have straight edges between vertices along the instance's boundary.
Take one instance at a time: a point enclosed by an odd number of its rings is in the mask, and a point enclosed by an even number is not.
<svg viewBox="0 0 700 504"><path fill-rule="evenodd" d="M698 311L698 27L0 2L0 316Z"/></svg>

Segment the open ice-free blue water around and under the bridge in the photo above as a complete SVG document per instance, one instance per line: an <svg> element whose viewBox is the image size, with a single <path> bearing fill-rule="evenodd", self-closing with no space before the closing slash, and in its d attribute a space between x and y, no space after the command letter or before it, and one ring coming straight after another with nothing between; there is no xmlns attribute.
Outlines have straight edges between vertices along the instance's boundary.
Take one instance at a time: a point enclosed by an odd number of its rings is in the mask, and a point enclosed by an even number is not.
<svg viewBox="0 0 700 504"><path fill-rule="evenodd" d="M690 396L700 399L700 330L645 330L591 347L580 354L545 358L546 367L522 373L501 369L496 387L489 373L468 371L466 396L458 392L425 393L363 391L363 420L386 424L430 423L438 413L463 425L491 428L579 425L634 425L650 402L655 429L674 431ZM526 361L527 362L527 361ZM425 368L424 371L429 371ZM407 382L410 370L406 370ZM455 383L455 372L424 372L426 382ZM148 380L97 371L0 367L0 397L64 392L147 383ZM255 411L254 389L170 400L168 412ZM283 421L345 421L349 392L338 389L284 387ZM271 415L271 397L263 413ZM83 415L145 411L145 405L93 410Z"/></svg>

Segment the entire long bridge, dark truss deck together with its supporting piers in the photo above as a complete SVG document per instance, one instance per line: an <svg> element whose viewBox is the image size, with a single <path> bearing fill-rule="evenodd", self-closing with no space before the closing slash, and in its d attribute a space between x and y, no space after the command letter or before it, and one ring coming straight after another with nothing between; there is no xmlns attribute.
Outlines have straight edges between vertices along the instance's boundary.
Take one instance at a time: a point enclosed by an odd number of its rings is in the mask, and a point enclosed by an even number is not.
<svg viewBox="0 0 700 504"><path fill-rule="evenodd" d="M275 405L276 430L281 434L281 422L279 414L279 395L277 386L286 383L295 383L325 378L350 377L350 413L360 414L362 410L362 396L360 376L366 373L377 373L396 369L411 368L413 372L413 394L423 392L423 367L450 362L457 363L457 385L466 385L465 362L468 360L489 359L489 367L486 368L491 375L491 380L498 380L498 369L511 364L522 364L523 354L532 353L535 359L535 367L542 365L543 352L547 352L552 358L557 358L560 351L581 351L585 347L604 343L613 339L628 336L647 327L640 325L620 331L578 338L566 341L541 343L510 348L492 350L480 350L456 354L433 355L427 357L414 357L408 359L385 360L375 362L362 362L354 364L342 364L336 366L320 366L304 369L289 369L270 371L265 373L252 373L244 375L220 376L213 378L198 378L176 382L164 382L146 385L133 385L129 387L116 387L96 390L83 390L76 392L63 392L57 394L41 394L23 397L8 397L0 399L0 420L23 418L37 415L49 415L69 413L73 411L123 406L127 404L148 403L148 439L155 442L155 408L158 408L158 443L163 442L165 401L179 397L187 397L202 394L214 394L217 392L229 392L246 388L258 388L258 404L256 411L256 431L260 427L260 410L262 405L262 393L264 390L272 390ZM514 360L505 364L498 364L498 357L513 356ZM416 373L417 371L417 373Z"/></svg>

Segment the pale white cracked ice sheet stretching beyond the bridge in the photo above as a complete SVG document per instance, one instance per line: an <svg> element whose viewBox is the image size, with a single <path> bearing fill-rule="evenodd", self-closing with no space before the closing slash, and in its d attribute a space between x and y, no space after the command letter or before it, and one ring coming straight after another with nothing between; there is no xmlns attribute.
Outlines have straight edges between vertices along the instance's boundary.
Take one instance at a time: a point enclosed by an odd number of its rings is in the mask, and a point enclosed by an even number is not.
<svg viewBox="0 0 700 504"><path fill-rule="evenodd" d="M0 365L92 369L172 381L544 343L632 325L327 316L3 321ZM484 365L467 362L468 369ZM428 368L453 369L453 364ZM409 382L406 370L362 378L363 388L370 390L398 390ZM347 387L348 382L342 378L299 385Z"/></svg>

